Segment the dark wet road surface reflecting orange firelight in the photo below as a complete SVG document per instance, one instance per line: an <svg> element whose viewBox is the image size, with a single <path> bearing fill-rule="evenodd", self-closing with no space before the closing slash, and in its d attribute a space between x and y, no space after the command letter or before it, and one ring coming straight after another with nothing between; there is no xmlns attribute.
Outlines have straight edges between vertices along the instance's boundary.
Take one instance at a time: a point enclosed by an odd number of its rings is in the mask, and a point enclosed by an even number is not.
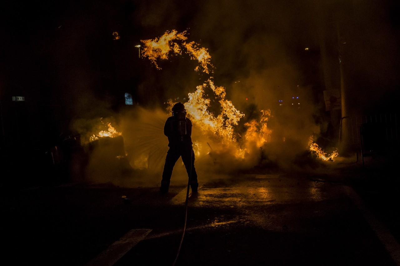
<svg viewBox="0 0 400 266"><path fill-rule="evenodd" d="M399 181L393 170L353 161L313 173L215 175L199 178L199 192L189 192L187 204L186 185L174 182L166 195L140 182L3 184L3 260L71 266L400 265Z"/></svg>

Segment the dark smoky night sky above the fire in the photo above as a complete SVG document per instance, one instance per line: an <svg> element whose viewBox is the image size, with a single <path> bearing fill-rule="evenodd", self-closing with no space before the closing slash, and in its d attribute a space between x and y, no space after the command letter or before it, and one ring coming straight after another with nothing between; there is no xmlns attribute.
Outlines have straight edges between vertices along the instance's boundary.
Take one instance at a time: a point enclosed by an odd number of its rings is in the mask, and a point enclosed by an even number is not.
<svg viewBox="0 0 400 266"><path fill-rule="evenodd" d="M292 95L312 116L326 116L323 91L340 90L339 52L348 111L397 111L399 10L390 0L7 2L2 144L29 130L41 131L37 144L73 131L74 119L119 113L126 92L150 109L183 100L207 77L185 56L157 70L135 47L170 30L188 30L189 41L208 49L214 82L247 118ZM24 107L11 96L24 96Z"/></svg>

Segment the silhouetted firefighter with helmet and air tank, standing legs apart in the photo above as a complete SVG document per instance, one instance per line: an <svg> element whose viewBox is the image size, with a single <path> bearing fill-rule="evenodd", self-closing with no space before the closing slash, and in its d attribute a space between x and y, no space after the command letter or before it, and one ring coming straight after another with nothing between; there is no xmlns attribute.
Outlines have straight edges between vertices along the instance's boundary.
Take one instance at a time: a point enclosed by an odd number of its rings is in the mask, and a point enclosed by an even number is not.
<svg viewBox="0 0 400 266"><path fill-rule="evenodd" d="M192 121L186 117L183 103L176 103L172 107L172 116L168 117L164 125L164 135L168 137L168 152L165 159L164 171L160 191L168 192L172 170L179 157L185 165L189 177L192 193L197 192L197 173L194 168L194 151L192 147Z"/></svg>

